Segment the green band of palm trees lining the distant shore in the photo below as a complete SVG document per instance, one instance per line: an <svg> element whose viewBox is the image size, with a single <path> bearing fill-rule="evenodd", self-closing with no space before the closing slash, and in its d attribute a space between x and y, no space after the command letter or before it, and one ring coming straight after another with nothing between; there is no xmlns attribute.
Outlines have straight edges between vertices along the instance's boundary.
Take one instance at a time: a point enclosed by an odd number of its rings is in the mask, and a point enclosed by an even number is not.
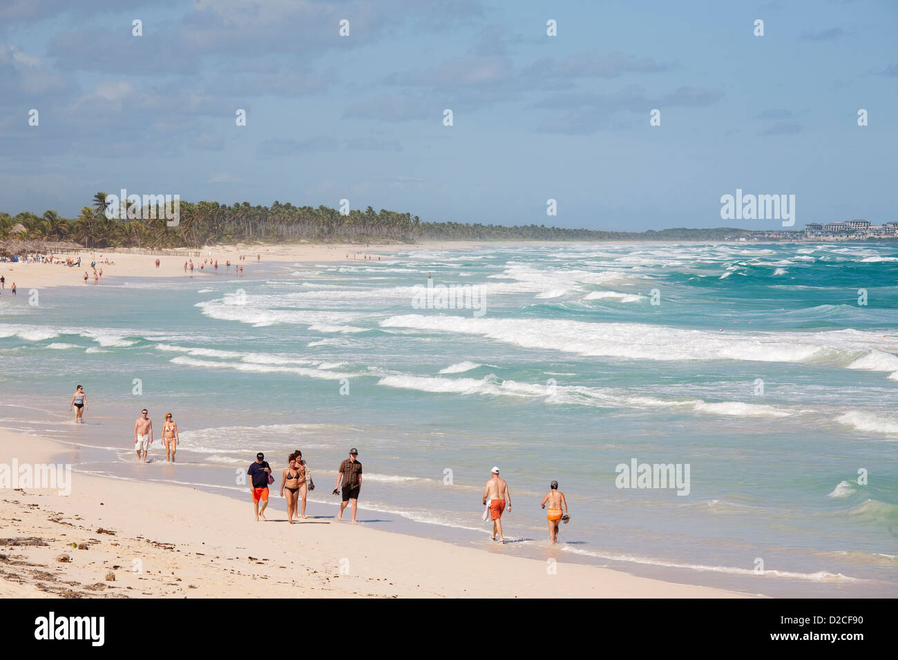
<svg viewBox="0 0 898 660"><path fill-rule="evenodd" d="M180 223L169 227L163 217L110 220L106 193L94 195L81 215L64 218L55 211L43 216L0 213L0 240L76 242L89 248L198 248L234 242L415 242L445 241L722 241L743 236L742 229L665 229L660 232L604 232L560 229L544 224L506 227L499 224L422 223L418 216L372 207L341 216L329 207L294 207L276 201L270 207L249 202L226 206L217 202L180 202ZM134 210L134 209L132 209ZM149 213L143 209L141 216Z"/></svg>

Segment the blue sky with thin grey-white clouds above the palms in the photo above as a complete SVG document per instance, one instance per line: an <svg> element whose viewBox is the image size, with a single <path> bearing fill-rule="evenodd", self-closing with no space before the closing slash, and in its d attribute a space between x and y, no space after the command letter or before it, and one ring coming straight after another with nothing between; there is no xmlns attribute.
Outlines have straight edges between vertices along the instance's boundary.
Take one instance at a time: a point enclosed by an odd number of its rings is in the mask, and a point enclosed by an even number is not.
<svg viewBox="0 0 898 660"><path fill-rule="evenodd" d="M896 0L4 0L0 211L71 217L127 189L781 228L722 219L742 189L795 195L795 228L882 224L898 220L896 36Z"/></svg>

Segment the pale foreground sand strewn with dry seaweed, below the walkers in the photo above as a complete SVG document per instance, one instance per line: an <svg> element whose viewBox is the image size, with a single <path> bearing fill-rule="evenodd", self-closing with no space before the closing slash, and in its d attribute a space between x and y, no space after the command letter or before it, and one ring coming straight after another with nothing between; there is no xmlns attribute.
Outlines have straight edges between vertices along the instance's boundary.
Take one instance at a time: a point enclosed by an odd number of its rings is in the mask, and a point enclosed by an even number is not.
<svg viewBox="0 0 898 660"><path fill-rule="evenodd" d="M20 466L71 462L76 451L0 429L0 471L13 457ZM563 561L553 574L549 562L503 555L489 542L479 550L383 532L349 523L348 511L343 522L319 517L290 525L276 492L268 521L256 523L249 492L240 502L195 488L76 472L67 496L56 489L0 488L0 597L743 595ZM61 555L70 560L58 561ZM114 580L106 579L109 573Z"/></svg>

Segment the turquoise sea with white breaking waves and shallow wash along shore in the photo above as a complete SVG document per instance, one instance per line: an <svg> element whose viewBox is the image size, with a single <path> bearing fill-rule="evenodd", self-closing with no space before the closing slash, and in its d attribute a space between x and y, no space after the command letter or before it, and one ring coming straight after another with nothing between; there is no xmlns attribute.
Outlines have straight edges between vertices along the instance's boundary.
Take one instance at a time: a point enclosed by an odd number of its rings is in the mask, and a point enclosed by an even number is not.
<svg viewBox="0 0 898 660"><path fill-rule="evenodd" d="M428 273L472 286L476 309L421 308ZM383 529L756 594L894 596L896 328L894 244L263 262L46 289L37 307L3 295L0 424L83 447L76 470L243 498L257 451L283 467L298 448L311 515L334 514L357 446L360 519ZM143 407L157 437L173 412L178 464L158 444L134 464ZM633 459L688 465L688 494L618 488ZM494 464L515 502L501 550L480 522ZM540 509L553 479L572 515L558 549Z"/></svg>

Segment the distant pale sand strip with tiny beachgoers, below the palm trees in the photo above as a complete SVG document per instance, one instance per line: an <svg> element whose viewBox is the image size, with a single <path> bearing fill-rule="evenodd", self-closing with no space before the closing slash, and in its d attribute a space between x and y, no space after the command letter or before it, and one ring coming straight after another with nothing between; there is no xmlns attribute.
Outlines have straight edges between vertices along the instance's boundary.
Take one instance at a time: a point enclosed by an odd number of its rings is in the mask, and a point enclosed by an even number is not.
<svg viewBox="0 0 898 660"><path fill-rule="evenodd" d="M481 243L482 244L482 243ZM511 243L508 243L511 244ZM80 268L68 268L64 264L57 263L0 263L0 274L6 277L6 289L13 282L19 292L27 294L31 288L44 286L84 286L84 272L88 275L87 286L93 286L92 260L113 261L111 264L97 264L97 270L102 268L103 275L100 283L113 283L121 277L184 277L184 262L193 260L194 277L216 277L216 270L208 265L204 270L199 269L203 260L218 260L217 275L233 275L233 265L243 266L243 275L251 275L253 268L260 262L268 261L296 261L296 262L325 262L325 261L362 261L365 254L374 255L374 261L378 256L389 257L398 251L407 250L471 250L477 247L477 242L420 242L372 244L369 246L353 244L318 244L318 243L278 243L269 245L223 245L202 250L181 250L178 256L152 254L128 254L116 252L112 249L85 250L81 252L55 253L54 256L65 260L72 257L77 260L81 257ZM245 255L246 260L237 258ZM257 255L261 260L257 260ZM348 258L347 258L348 255ZM353 256L356 259L353 260ZM159 259L159 268L155 267L155 260ZM231 270L225 268L225 261L231 261ZM188 269L188 274L190 271ZM4 291L4 294L6 291Z"/></svg>

